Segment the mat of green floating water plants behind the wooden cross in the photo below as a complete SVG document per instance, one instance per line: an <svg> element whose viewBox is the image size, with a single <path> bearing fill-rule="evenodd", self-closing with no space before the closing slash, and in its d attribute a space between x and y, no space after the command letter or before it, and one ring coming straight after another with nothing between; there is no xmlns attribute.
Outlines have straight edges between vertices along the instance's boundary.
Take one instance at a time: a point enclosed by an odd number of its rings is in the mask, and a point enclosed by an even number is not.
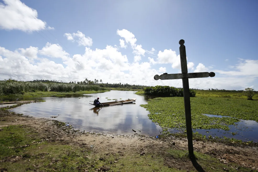
<svg viewBox="0 0 258 172"><path fill-rule="evenodd" d="M258 121L258 101L219 97L191 97L190 101L193 129L229 130L228 125L235 124L239 119ZM161 127L186 128L183 97L159 97L140 106L146 108L150 112L149 118ZM229 117L208 117L204 114Z"/></svg>

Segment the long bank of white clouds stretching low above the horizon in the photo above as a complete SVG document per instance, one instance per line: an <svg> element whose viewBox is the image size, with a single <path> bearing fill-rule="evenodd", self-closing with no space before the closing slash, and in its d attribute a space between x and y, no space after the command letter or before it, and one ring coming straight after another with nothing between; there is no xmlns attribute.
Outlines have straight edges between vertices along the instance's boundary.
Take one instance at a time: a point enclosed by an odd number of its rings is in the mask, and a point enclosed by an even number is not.
<svg viewBox="0 0 258 172"><path fill-rule="evenodd" d="M128 34L128 32L125 32ZM134 42L134 37L123 35L129 42ZM68 34L68 39L75 37ZM132 38L132 39L130 39ZM76 37L77 39L77 37ZM137 45L135 46L137 47ZM134 48L133 47L133 50ZM139 49L140 50L140 49ZM138 51L139 52L139 51ZM161 75L173 69L181 69L179 55L175 51L159 51L157 57L142 59L142 54L128 55L133 57L133 61L128 60L127 55L119 52L118 47L107 45L103 49L85 47L82 54L70 55L64 51L59 44L46 43L44 47L18 48L14 51L0 47L0 80L62 80L65 82L102 79L104 83L128 83L136 85L169 85L182 87L182 80L154 80L155 75ZM64 64L58 64L50 60L59 58ZM37 59L35 63L31 60ZM156 67L158 64L169 64L171 67ZM188 69L194 72L211 72L204 64L199 63L194 67L193 62L188 62ZM65 66L65 67L64 67ZM193 69L194 68L194 69ZM214 66L215 68L215 66ZM190 88L208 89L243 89L250 86L257 88L255 81L258 77L258 60L240 59L231 71L213 70L215 77L191 78Z"/></svg>

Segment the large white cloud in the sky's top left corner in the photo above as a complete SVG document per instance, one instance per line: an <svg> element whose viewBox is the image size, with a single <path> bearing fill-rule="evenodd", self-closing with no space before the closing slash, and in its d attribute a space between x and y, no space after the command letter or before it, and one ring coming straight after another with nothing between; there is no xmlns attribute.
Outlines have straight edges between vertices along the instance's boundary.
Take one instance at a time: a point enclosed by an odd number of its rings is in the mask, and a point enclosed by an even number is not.
<svg viewBox="0 0 258 172"><path fill-rule="evenodd" d="M36 10L20 0L3 0L0 3L0 28L6 30L38 31L46 29L47 23L38 19ZM53 29L49 26L49 29Z"/></svg>

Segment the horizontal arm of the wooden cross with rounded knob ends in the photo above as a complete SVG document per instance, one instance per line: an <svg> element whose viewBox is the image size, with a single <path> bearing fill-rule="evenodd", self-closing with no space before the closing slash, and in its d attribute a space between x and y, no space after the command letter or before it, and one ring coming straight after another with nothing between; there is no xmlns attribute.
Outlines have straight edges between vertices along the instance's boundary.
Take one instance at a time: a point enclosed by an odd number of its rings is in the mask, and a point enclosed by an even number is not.
<svg viewBox="0 0 258 172"><path fill-rule="evenodd" d="M196 73L176 73L176 74L162 74L155 75L155 80L164 80L164 79L183 79L183 78L206 78L206 77L214 77L214 72L196 72Z"/></svg>

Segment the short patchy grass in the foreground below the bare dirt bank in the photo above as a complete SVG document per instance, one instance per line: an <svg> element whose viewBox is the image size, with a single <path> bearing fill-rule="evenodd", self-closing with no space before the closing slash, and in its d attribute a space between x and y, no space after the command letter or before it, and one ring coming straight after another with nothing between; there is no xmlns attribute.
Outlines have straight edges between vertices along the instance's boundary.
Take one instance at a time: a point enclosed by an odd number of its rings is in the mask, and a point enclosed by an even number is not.
<svg viewBox="0 0 258 172"><path fill-rule="evenodd" d="M123 155L105 150L92 153L89 146L71 145L67 142L48 142L32 128L13 125L0 131L0 167L7 171L189 171L194 170L184 153L163 149L163 154L146 152L140 156L136 152ZM202 153L198 157L209 161L197 160L203 169L221 171L232 169L218 160ZM198 158L197 157L197 158ZM171 160L170 163L167 160ZM176 162L176 163L175 163ZM219 164L219 165L216 165ZM210 168L212 166L213 168ZM231 163L230 166L236 166ZM236 171L236 170L235 170Z"/></svg>

